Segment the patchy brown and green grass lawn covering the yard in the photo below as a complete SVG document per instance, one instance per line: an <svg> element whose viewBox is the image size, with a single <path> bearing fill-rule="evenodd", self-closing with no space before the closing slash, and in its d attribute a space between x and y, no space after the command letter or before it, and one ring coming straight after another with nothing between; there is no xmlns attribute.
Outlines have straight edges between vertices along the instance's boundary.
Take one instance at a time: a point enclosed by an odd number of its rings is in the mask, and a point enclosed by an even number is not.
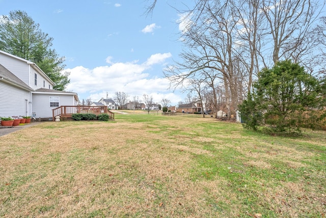
<svg viewBox="0 0 326 218"><path fill-rule="evenodd" d="M325 131L284 138L212 118L115 119L0 137L0 216L326 216Z"/></svg>

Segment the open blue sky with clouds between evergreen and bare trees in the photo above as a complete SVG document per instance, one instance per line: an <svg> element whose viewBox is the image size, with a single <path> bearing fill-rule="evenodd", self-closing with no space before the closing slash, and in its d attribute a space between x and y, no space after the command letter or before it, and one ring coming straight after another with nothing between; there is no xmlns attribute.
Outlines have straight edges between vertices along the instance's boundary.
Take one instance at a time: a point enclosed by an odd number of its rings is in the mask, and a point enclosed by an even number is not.
<svg viewBox="0 0 326 218"><path fill-rule="evenodd" d="M151 1L149 1L151 2ZM66 58L70 71L67 91L79 99L98 101L115 92L153 96L172 105L184 100L169 90L162 71L178 60L181 27L180 1L158 1L152 16L145 16L147 0L0 0L0 16L25 11L53 38L53 48Z"/></svg>

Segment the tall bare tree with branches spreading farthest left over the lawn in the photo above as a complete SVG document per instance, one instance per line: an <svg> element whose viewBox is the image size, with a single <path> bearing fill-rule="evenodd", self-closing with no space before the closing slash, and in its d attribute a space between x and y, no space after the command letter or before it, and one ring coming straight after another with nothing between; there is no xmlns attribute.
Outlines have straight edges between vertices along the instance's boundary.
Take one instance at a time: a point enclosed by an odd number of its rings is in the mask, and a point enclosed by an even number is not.
<svg viewBox="0 0 326 218"><path fill-rule="evenodd" d="M232 7L224 2L214 1L210 4L203 1L196 11L196 22L189 22L187 31L182 35L185 46L189 48L180 55L183 62L168 68L165 76L175 86L184 86L188 79L205 77L214 89L214 83L222 81L228 95L230 115L231 110L236 110L238 99L237 78L233 70L237 21L233 20L233 14L230 13ZM188 70L188 73L184 73L184 70ZM231 107L232 102L234 106Z"/></svg>

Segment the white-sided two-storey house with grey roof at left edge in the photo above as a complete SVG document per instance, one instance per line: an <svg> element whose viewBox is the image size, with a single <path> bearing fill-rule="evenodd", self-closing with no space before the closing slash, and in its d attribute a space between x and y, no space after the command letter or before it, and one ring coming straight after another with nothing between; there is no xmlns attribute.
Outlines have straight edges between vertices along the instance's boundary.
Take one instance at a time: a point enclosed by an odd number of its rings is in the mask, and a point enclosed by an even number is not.
<svg viewBox="0 0 326 218"><path fill-rule="evenodd" d="M33 62L0 50L0 117L52 119L52 109L77 105L77 93L53 90L53 81Z"/></svg>

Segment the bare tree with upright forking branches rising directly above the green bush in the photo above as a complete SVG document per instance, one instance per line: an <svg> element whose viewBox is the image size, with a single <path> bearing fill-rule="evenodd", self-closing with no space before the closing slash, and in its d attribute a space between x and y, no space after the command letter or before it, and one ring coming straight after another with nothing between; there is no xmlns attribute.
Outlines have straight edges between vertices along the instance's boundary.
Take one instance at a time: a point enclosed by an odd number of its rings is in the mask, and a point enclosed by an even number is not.
<svg viewBox="0 0 326 218"><path fill-rule="evenodd" d="M265 39L273 42L273 62L289 59L302 45L312 24L320 14L319 3L313 0L262 0L260 9L265 15L268 31ZM265 48L268 48L265 44ZM262 55L265 55L263 53Z"/></svg>

